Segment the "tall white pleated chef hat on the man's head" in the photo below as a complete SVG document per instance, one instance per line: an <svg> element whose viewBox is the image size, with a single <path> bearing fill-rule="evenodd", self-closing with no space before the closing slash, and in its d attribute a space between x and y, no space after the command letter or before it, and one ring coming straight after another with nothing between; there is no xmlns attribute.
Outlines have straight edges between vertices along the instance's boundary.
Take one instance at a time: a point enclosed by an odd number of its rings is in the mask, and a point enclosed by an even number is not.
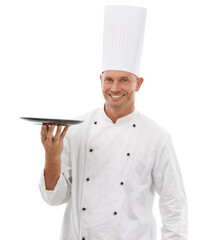
<svg viewBox="0 0 204 240"><path fill-rule="evenodd" d="M120 70L139 76L145 18L143 7L105 7L102 72Z"/></svg>

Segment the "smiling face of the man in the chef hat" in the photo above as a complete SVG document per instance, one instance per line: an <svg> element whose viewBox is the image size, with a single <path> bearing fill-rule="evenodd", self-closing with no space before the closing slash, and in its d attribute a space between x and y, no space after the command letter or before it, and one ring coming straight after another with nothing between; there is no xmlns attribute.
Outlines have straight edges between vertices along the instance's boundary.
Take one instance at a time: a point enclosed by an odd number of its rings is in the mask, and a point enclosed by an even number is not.
<svg viewBox="0 0 204 240"><path fill-rule="evenodd" d="M139 90L142 78L125 71L108 70L100 75L100 79L108 108L124 111L134 107L135 92Z"/></svg>

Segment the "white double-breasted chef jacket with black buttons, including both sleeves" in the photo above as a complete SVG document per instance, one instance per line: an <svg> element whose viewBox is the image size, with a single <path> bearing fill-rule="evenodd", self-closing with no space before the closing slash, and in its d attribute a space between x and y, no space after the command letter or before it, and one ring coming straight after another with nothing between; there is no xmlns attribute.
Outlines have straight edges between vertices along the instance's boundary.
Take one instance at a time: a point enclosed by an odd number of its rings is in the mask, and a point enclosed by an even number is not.
<svg viewBox="0 0 204 240"><path fill-rule="evenodd" d="M140 111L116 123L104 107L64 138L61 175L43 199L67 203L60 240L155 240L155 191L162 240L187 240L187 200L170 134Z"/></svg>

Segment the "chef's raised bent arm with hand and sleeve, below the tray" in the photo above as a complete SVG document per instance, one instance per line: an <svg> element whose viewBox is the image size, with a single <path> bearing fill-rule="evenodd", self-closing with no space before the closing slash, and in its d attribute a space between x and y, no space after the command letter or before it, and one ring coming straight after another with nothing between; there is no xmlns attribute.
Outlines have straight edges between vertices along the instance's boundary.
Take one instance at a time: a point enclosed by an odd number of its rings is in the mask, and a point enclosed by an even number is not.
<svg viewBox="0 0 204 240"><path fill-rule="evenodd" d="M71 194L71 159L68 127L61 132L58 127L55 137L54 126L41 130L41 141L45 148L45 167L40 179L40 192L49 205L59 205L69 201ZM47 135L46 135L47 134ZM45 142L47 139L47 143Z"/></svg>

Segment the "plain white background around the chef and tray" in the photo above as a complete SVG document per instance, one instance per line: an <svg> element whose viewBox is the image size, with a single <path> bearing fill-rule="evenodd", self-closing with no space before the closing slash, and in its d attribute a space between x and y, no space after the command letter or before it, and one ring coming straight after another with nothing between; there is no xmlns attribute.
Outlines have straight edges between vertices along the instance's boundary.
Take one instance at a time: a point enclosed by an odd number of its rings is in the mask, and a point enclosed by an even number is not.
<svg viewBox="0 0 204 240"><path fill-rule="evenodd" d="M0 239L59 237L65 205L38 183L39 125L20 117L72 118L101 107L104 6L147 8L136 109L173 139L189 206L189 239L204 239L204 7L198 0L1 0ZM158 196L154 211L160 239Z"/></svg>

